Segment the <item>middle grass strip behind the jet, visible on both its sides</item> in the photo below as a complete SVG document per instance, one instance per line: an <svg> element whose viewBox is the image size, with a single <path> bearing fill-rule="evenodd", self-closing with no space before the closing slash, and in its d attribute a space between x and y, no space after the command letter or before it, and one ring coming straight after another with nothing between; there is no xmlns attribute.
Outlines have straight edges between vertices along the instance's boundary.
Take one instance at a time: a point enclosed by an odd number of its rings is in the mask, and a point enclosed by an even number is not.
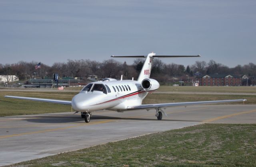
<svg viewBox="0 0 256 167"><path fill-rule="evenodd" d="M0 116L23 115L23 114L40 114L40 113L56 113L71 111L70 105L44 103L39 101L29 101L20 99L5 98L4 95L38 97L46 99L60 99L71 101L77 92L26 92L26 91L0 91ZM246 104L256 104L256 96L254 95L193 95L193 94L148 94L144 99L144 104L149 103L170 103L184 101L210 101L222 99L247 99ZM223 104L223 103L222 103ZM227 104L227 103L224 103ZM232 104L242 104L236 102Z"/></svg>

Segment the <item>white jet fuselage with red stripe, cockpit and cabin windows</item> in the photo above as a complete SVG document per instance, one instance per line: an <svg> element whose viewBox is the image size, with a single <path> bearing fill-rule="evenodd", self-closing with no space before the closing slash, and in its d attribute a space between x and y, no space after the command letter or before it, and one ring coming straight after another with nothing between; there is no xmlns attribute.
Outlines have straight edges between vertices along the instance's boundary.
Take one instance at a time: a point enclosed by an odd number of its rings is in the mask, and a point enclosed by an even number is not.
<svg viewBox="0 0 256 167"><path fill-rule="evenodd" d="M100 86L103 88L99 89ZM141 83L134 80L92 82L72 98L72 108L81 112L125 111L128 106L141 105L147 94Z"/></svg>

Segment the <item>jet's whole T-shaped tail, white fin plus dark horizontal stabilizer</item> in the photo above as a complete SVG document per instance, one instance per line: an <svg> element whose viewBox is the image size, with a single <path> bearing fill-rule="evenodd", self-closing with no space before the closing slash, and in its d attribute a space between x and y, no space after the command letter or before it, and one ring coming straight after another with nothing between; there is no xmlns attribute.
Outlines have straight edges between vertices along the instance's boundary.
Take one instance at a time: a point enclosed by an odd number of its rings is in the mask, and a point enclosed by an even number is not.
<svg viewBox="0 0 256 167"><path fill-rule="evenodd" d="M200 55L196 56L163 56L156 55L155 53L150 53L148 56L111 56L112 58L146 58L142 70L140 71L140 75L138 77L138 82L142 82L145 79L148 79L151 74L153 59L154 58L193 58L193 57L201 57Z"/></svg>

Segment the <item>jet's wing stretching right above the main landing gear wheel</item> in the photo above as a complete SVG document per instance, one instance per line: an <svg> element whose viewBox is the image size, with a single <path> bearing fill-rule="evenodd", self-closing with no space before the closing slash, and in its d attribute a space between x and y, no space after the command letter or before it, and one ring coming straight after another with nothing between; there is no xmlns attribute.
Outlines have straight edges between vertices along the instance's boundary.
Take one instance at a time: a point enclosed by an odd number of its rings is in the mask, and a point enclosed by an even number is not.
<svg viewBox="0 0 256 167"><path fill-rule="evenodd" d="M196 105L196 104L212 104L212 103L229 103L229 102L238 102L246 101L246 99L237 99L237 100L216 100L216 101L194 101L194 102L181 102L181 103L159 103L159 104L142 104L127 107L128 110L132 109L156 109L156 108L168 108L174 106L186 106L186 105Z"/></svg>

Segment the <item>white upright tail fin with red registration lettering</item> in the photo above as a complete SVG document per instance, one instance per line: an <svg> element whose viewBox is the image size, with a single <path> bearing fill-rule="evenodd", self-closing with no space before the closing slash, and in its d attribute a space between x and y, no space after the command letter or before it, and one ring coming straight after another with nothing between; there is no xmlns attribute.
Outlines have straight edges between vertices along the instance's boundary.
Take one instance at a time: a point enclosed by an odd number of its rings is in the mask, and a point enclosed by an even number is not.
<svg viewBox="0 0 256 167"><path fill-rule="evenodd" d="M152 69L152 64L153 64L153 56L155 56L155 53L150 53L146 57L146 60L144 62L144 65L140 71L140 75L138 77L138 82L142 82L144 79L148 79L150 77L151 69Z"/></svg>

